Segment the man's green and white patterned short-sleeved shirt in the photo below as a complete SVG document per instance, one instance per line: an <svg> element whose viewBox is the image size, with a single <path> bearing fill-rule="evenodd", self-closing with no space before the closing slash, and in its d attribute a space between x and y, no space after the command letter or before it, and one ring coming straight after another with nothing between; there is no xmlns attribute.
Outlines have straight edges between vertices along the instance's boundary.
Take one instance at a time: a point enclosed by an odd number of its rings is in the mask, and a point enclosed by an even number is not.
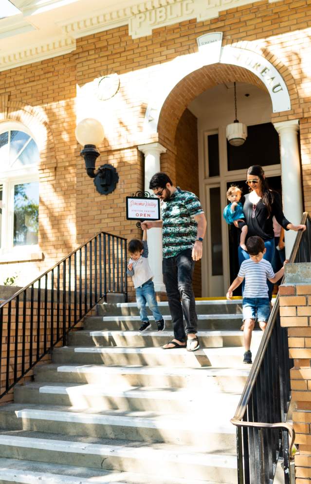
<svg viewBox="0 0 311 484"><path fill-rule="evenodd" d="M163 257L173 257L185 249L192 249L197 238L195 215L204 213L198 197L179 187L171 198L162 203Z"/></svg>

